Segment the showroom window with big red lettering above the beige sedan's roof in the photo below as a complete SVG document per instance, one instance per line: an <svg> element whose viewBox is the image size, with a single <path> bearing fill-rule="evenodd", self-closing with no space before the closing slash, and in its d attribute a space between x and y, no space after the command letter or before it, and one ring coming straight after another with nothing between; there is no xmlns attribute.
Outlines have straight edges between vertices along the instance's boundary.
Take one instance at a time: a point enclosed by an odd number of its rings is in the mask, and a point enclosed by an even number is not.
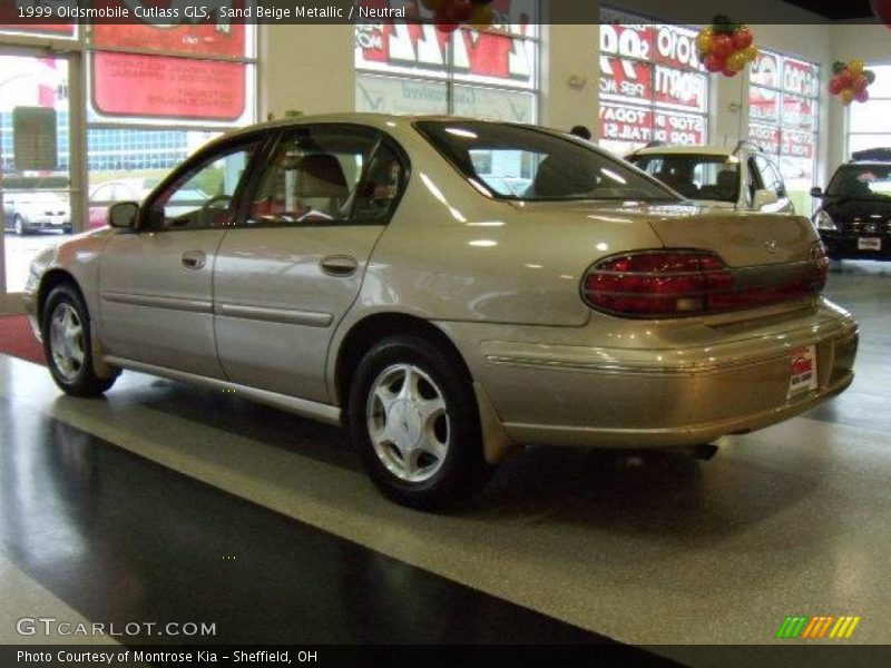
<svg viewBox="0 0 891 668"><path fill-rule="evenodd" d="M414 17L433 16L418 0L385 3ZM536 122L538 0L495 0L491 7L495 21L484 31L462 27L448 35L432 22L358 23L356 110Z"/></svg>

